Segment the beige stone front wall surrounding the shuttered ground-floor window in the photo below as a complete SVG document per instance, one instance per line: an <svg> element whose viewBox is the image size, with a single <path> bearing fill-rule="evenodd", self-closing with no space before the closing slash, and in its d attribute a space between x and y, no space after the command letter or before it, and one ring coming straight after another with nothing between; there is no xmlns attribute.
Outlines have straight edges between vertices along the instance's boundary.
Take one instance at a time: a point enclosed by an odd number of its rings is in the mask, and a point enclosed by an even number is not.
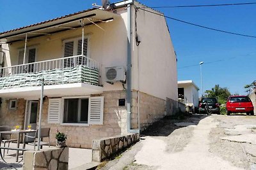
<svg viewBox="0 0 256 170"><path fill-rule="evenodd" d="M44 110L42 115L42 127L51 127L50 142L55 145L56 129L67 134L67 146L75 148L92 148L93 139L108 138L126 134L127 132L127 111L126 106L118 107L118 99L125 99L126 92L112 91L93 96L104 96L104 120L103 125L61 125L48 124L48 102L44 101Z"/></svg>

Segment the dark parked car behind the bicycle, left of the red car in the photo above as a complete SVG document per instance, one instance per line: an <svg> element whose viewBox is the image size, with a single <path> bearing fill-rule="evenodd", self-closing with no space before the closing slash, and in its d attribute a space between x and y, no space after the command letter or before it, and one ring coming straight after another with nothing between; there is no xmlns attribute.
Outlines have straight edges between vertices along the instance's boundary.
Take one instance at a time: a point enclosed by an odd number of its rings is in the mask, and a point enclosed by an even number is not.
<svg viewBox="0 0 256 170"><path fill-rule="evenodd" d="M205 113L206 104L209 106L212 113L220 115L220 104L218 103L218 100L215 97L202 98L199 104L199 113Z"/></svg>

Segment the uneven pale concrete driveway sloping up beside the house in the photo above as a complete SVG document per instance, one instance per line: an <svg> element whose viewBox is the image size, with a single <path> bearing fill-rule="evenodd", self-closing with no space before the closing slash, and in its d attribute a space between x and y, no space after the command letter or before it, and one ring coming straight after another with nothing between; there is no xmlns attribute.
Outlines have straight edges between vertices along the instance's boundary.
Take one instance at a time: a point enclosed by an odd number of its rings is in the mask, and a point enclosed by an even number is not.
<svg viewBox="0 0 256 170"><path fill-rule="evenodd" d="M102 169L256 169L256 117L166 118Z"/></svg>

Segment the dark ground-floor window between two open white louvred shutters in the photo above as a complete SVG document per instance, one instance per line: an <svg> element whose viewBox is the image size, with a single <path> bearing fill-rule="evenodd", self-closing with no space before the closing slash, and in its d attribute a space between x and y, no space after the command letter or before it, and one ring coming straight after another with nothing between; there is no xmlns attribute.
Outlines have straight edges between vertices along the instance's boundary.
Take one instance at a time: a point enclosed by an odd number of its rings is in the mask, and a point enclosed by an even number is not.
<svg viewBox="0 0 256 170"><path fill-rule="evenodd" d="M88 123L88 98L64 100L63 123Z"/></svg>

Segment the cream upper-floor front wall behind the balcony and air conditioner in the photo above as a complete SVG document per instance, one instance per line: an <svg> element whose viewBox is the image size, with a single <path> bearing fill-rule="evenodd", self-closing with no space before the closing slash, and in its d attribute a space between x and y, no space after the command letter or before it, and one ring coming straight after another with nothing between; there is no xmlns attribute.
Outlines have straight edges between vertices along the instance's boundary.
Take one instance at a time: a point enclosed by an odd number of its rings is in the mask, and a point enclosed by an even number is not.
<svg viewBox="0 0 256 170"><path fill-rule="evenodd" d="M121 17L113 22L98 24L105 31L95 25L84 27L84 34L90 36L90 58L101 64L101 80L104 91L123 90L122 83L110 85L105 83L105 67L125 66L127 63L127 13L119 11ZM58 59L63 57L63 40L82 36L82 29L75 29L29 39L28 47L36 47L36 61ZM24 48L24 41L8 45L10 48L10 60L7 66L18 64L19 50Z"/></svg>

